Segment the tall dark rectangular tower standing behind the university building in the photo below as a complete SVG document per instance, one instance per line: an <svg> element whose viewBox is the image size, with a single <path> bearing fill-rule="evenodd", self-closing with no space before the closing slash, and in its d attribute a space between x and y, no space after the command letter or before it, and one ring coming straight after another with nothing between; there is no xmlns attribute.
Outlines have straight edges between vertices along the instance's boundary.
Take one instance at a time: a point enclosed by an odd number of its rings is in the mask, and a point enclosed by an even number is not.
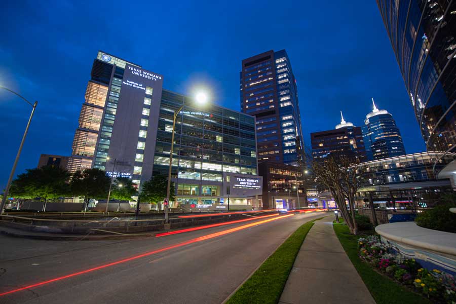
<svg viewBox="0 0 456 304"><path fill-rule="evenodd" d="M256 117L258 162L299 166L304 142L296 88L285 50L242 60L241 111Z"/></svg>

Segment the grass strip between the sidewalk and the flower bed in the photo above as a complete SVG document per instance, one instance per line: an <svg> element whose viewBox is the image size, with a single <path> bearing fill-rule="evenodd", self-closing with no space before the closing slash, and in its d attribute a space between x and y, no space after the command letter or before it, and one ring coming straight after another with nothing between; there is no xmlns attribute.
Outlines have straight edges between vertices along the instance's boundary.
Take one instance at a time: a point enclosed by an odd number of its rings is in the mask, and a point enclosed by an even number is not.
<svg viewBox="0 0 456 304"><path fill-rule="evenodd" d="M358 255L358 238L345 223L333 223L334 232L377 304L430 304L430 300L374 271Z"/></svg>

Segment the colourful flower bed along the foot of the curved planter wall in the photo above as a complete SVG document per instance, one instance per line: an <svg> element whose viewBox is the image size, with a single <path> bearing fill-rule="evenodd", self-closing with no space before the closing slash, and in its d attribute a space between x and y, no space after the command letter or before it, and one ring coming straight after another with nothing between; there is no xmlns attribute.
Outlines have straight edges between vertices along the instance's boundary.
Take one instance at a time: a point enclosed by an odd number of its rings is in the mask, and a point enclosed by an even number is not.
<svg viewBox="0 0 456 304"><path fill-rule="evenodd" d="M405 258L397 248L378 236L358 240L360 257L382 273L396 279L431 300L456 304L456 278L437 269L428 271L414 259Z"/></svg>

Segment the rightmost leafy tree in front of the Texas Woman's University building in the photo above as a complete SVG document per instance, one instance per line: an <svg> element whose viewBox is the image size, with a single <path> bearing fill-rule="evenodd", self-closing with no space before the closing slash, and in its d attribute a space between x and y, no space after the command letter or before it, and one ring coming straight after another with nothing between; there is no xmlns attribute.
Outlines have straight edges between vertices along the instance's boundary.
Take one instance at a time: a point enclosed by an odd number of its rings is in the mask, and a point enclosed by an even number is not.
<svg viewBox="0 0 456 304"><path fill-rule="evenodd" d="M158 204L166 198L168 177L165 175L154 175L145 181L141 187L141 201ZM174 201L174 182L171 182L169 200Z"/></svg>

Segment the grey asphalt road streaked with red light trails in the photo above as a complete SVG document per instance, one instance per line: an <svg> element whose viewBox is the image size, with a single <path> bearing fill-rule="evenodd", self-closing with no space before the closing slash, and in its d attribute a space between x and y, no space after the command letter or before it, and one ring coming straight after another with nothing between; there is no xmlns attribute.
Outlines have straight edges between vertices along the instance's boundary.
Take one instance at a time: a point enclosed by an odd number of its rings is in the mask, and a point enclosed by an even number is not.
<svg viewBox="0 0 456 304"><path fill-rule="evenodd" d="M3 295L0 303L221 303L297 227L322 216L323 212L302 213L200 239ZM122 241L46 241L0 236L0 294L256 221Z"/></svg>

